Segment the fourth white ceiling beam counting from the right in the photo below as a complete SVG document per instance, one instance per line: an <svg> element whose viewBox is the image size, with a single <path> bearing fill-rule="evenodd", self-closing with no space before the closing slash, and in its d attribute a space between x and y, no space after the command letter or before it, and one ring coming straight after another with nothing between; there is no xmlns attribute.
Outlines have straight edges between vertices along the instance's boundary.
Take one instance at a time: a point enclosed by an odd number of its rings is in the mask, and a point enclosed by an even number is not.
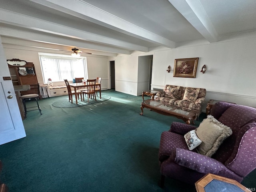
<svg viewBox="0 0 256 192"><path fill-rule="evenodd" d="M92 49L92 50L102 50L105 52L120 53L120 54L127 54L127 55L130 54L130 51L122 50L122 49L118 49L118 48L99 46L99 45L89 44L86 42L68 40L68 39L64 39L64 38L56 38L56 37L52 37L52 36L24 32L24 31L20 31L20 30L14 30L14 29L3 28L3 27L0 28L0 35L7 36L7 37L19 38L19 39L26 39L26 40L30 40L30 41L36 41L36 42L44 42L44 43L49 43L49 44L86 47L86 48Z"/></svg>

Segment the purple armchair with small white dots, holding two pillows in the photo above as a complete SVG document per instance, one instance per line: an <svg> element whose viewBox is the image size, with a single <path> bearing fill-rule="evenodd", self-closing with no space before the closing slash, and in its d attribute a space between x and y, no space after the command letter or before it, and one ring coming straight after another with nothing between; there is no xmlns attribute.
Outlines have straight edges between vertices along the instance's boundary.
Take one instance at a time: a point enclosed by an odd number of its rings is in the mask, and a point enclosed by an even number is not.
<svg viewBox="0 0 256 192"><path fill-rule="evenodd" d="M212 157L188 149L184 134L196 127L173 122L169 131L162 132L158 154L160 187L166 176L194 184L207 173L242 182L256 168L256 109L218 102L212 106L211 115L233 132Z"/></svg>

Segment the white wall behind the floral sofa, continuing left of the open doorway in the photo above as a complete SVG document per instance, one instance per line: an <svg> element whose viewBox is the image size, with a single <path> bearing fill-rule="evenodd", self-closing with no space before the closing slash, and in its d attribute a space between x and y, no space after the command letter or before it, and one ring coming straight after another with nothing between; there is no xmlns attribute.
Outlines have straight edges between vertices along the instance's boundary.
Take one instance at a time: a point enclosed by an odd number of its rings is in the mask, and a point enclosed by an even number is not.
<svg viewBox="0 0 256 192"><path fill-rule="evenodd" d="M206 103L210 99L235 102L256 107L256 35L241 34L221 42L188 46L176 49L154 51L152 67L152 88L164 88L165 84L206 88ZM116 57L116 73L122 84L116 90L136 95L136 88L130 89L136 81L138 56L132 54ZM173 77L174 60L199 57L196 78ZM203 65L207 71L200 72ZM170 73L166 72L168 66ZM128 75L129 74L129 75ZM130 93L132 90L132 93ZM205 111L206 103L203 106Z"/></svg>

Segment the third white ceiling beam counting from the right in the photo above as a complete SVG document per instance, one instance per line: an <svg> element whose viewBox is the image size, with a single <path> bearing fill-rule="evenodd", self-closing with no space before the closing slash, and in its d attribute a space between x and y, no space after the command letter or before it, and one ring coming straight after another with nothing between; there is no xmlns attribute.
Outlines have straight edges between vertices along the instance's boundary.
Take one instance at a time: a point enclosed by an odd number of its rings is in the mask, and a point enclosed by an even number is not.
<svg viewBox="0 0 256 192"><path fill-rule="evenodd" d="M18 13L0 9L0 15L1 15L0 22L6 23L6 24L14 24L16 26L21 26L24 28L48 32L51 34L56 34L64 37L77 38L80 40L116 46L119 48L148 52L148 48L144 46L139 46L139 45L128 43L128 42L107 38L97 34L84 32L82 30L77 30L74 28L40 20L37 18L32 18L30 16L25 16L23 14L18 14Z"/></svg>

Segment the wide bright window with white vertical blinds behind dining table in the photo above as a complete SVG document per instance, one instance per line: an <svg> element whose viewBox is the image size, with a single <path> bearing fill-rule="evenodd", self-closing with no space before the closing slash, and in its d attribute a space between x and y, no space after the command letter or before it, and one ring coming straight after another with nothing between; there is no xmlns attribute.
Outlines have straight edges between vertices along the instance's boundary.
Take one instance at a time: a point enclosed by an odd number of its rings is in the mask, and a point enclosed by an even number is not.
<svg viewBox="0 0 256 192"><path fill-rule="evenodd" d="M75 77L87 79L86 58L73 58L56 54L39 53L44 83L50 78L52 82L69 81Z"/></svg>

